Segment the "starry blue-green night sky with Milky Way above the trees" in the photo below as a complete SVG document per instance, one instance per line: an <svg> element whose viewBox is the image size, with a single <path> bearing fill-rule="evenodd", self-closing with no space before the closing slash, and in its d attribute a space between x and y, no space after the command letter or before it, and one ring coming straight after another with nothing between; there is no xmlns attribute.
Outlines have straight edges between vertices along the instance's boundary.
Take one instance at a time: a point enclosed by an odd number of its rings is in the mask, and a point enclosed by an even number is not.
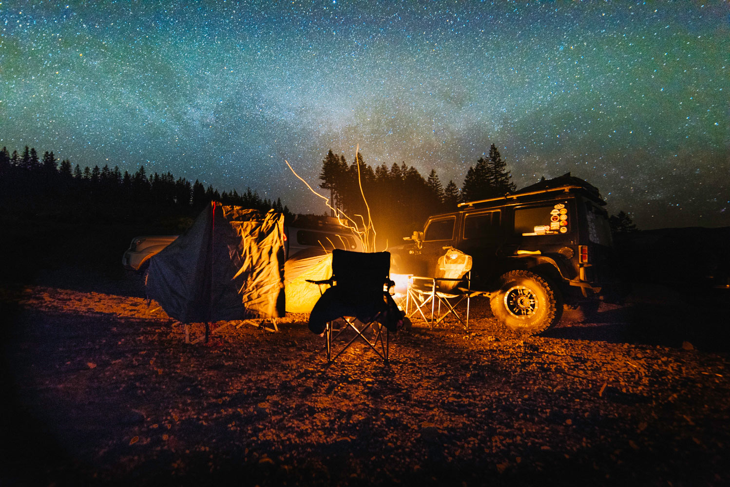
<svg viewBox="0 0 730 487"><path fill-rule="evenodd" d="M0 146L325 208L328 149L730 225L730 3L0 0Z"/></svg>

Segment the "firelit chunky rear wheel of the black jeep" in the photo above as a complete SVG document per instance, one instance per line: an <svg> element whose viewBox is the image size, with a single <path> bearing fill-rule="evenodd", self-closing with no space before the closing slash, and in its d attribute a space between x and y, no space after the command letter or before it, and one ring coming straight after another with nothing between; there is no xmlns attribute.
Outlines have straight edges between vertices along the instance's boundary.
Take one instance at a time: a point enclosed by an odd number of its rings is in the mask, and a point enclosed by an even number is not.
<svg viewBox="0 0 730 487"><path fill-rule="evenodd" d="M510 270L499 278L499 289L490 305L494 317L524 335L537 335L560 321L560 290L529 270Z"/></svg>

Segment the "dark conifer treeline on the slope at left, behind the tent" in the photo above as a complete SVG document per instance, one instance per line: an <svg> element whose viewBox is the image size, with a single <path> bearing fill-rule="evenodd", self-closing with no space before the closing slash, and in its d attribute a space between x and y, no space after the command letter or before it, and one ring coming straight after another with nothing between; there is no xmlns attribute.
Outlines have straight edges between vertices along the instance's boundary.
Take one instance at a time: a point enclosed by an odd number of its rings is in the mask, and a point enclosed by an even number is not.
<svg viewBox="0 0 730 487"><path fill-rule="evenodd" d="M191 184L182 177L175 179L170 172L147 176L144 165L140 165L134 174L108 165L82 169L78 164L72 166L68 159L58 163L53 152L45 152L39 158L36 149L28 146L23 154L18 151L10 154L7 147L3 147L0 150L0 201L7 206L10 201L19 203L19 200L35 209L49 205L74 209L83 206L84 211L91 213L110 211L118 215L150 208L180 216L192 216L211 200L217 200L262 211L273 208L291 217L280 198L276 201L264 199L250 188L241 194L237 190L221 193L212 185L204 187L198 180Z"/></svg>

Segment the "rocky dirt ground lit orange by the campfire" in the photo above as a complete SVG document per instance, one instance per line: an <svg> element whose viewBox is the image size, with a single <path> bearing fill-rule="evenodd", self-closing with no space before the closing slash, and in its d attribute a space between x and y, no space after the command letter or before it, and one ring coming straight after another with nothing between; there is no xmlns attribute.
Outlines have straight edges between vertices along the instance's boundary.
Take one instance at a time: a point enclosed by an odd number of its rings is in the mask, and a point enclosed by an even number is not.
<svg viewBox="0 0 730 487"><path fill-rule="evenodd" d="M306 316L185 345L139 279L81 260L0 283L2 485L730 483L726 290L640 285L531 338L473 300L468 331L327 366Z"/></svg>

